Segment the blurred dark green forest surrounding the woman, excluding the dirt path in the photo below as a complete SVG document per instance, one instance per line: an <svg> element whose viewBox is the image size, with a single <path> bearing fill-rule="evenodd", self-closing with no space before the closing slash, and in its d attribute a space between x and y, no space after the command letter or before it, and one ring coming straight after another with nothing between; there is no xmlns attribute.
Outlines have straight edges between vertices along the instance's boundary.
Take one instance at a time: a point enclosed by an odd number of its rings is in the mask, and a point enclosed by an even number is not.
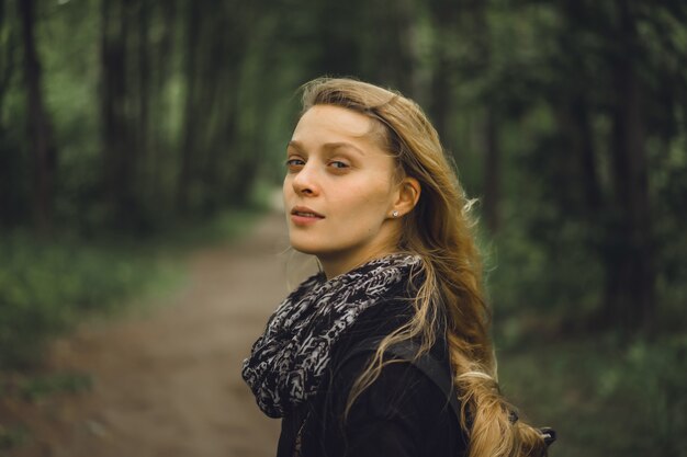
<svg viewBox="0 0 687 457"><path fill-rule="evenodd" d="M439 130L504 392L552 455L687 456L682 0L0 0L0 399L262 217L324 75ZM32 439L2 418L0 453Z"/></svg>

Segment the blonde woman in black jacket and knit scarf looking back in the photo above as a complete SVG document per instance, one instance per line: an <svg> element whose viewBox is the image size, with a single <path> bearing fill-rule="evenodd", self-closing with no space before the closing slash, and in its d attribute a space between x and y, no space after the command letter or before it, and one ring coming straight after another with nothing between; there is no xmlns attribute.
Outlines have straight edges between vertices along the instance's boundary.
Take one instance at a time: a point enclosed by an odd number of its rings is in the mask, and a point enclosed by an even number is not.
<svg viewBox="0 0 687 457"><path fill-rule="evenodd" d="M417 104L304 87L286 149L291 244L315 255L244 363L278 456L538 456L500 397L470 201Z"/></svg>

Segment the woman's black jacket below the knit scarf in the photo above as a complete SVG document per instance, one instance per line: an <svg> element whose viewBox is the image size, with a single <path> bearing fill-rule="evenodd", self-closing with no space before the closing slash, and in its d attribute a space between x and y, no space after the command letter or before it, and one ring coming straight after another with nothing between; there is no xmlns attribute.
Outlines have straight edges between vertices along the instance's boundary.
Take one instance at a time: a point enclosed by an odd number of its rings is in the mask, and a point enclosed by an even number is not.
<svg viewBox="0 0 687 457"><path fill-rule="evenodd" d="M372 351L360 351L359 343L388 334L409 318L409 312L407 300L391 300L359 317L334 349L328 376L323 380L326 388L282 420L278 457L465 454L465 438L447 395L407 361L386 365L344 419L351 386L373 355ZM431 355L448 372L442 341Z"/></svg>

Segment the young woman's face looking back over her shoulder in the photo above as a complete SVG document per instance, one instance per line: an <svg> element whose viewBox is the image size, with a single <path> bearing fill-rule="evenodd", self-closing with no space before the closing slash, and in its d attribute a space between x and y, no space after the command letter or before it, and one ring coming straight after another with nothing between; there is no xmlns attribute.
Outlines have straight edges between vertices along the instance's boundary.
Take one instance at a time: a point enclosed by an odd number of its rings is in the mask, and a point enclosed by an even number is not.
<svg viewBox="0 0 687 457"><path fill-rule="evenodd" d="M316 255L328 277L393 252L398 185L373 121L334 105L301 117L286 149L284 206L291 245Z"/></svg>

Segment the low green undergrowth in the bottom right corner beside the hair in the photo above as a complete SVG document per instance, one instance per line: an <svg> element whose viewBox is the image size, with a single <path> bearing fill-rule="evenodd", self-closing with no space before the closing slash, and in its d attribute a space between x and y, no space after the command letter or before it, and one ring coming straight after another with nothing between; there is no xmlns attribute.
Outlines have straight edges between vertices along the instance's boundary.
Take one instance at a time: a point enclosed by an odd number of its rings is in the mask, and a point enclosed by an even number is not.
<svg viewBox="0 0 687 457"><path fill-rule="evenodd" d="M559 433L552 455L687 456L687 340L550 341L500 354L500 384L527 420Z"/></svg>

